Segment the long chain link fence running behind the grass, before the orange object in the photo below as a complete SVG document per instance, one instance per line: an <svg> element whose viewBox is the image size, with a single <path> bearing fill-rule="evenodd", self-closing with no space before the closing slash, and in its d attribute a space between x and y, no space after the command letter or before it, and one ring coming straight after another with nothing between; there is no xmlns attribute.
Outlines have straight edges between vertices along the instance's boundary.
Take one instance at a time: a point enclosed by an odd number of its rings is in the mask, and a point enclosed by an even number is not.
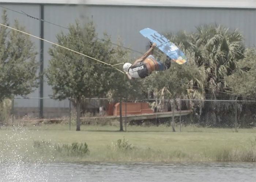
<svg viewBox="0 0 256 182"><path fill-rule="evenodd" d="M40 108L40 100L43 107ZM121 111L121 112L120 112ZM121 113L121 116L120 116ZM81 124L121 126L125 131L199 131L196 128L253 128L256 131L255 100L144 99L110 102L105 98L84 99ZM0 107L0 126L76 124L72 99L5 99Z"/></svg>

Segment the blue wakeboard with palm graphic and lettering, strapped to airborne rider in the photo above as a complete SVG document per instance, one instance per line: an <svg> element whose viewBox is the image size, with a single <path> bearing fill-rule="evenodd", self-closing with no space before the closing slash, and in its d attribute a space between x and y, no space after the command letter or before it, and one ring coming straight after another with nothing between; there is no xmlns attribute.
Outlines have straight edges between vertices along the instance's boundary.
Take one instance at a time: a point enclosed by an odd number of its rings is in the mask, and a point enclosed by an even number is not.
<svg viewBox="0 0 256 182"><path fill-rule="evenodd" d="M176 63L184 64L187 62L185 54L180 50L180 48L178 48L165 36L159 34L157 31L151 28L144 28L140 31L140 33L144 37L148 38L151 42L156 43L156 47Z"/></svg>

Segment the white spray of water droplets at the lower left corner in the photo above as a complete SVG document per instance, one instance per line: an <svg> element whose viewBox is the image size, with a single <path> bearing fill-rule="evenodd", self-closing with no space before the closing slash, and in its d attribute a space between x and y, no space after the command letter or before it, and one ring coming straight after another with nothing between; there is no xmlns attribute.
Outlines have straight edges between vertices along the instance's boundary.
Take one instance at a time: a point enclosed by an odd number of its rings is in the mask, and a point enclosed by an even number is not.
<svg viewBox="0 0 256 182"><path fill-rule="evenodd" d="M48 182L49 164L35 159L28 145L31 131L19 126L9 131L6 140L0 140L0 182Z"/></svg>

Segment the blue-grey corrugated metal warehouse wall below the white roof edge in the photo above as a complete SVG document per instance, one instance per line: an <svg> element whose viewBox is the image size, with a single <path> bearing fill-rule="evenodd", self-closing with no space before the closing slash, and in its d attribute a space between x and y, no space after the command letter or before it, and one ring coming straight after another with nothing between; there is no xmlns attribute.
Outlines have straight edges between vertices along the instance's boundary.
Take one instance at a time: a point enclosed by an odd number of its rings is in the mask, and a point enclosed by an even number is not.
<svg viewBox="0 0 256 182"><path fill-rule="evenodd" d="M39 5L32 4L1 4L4 7L23 11L29 15L39 17ZM0 8L2 11L3 8ZM8 17L13 23L17 18L20 24L26 26L28 32L39 36L39 21L19 13L8 11ZM256 9L227 9L227 8L181 8L181 7L128 7L101 5L44 5L44 19L52 23L68 27L75 19L82 23L93 18L99 37L103 32L112 36L112 42L117 43L118 37L124 46L144 52L148 41L140 35L140 29L150 27L158 32L173 32L180 30L192 32L202 24L222 24L231 30L238 29L244 34L246 46L256 45ZM44 38L56 42L56 34L67 29L53 24L44 24ZM39 48L39 40L33 38L35 46ZM86 43L84 43L86 44ZM44 67L47 68L49 43L44 43ZM39 51L38 51L39 52ZM135 54L140 56L140 54ZM39 60L39 57L37 57ZM44 83L44 97L52 94L50 86ZM38 96L38 90L30 96ZM25 103L24 103L25 104ZM45 106L52 103L45 101Z"/></svg>

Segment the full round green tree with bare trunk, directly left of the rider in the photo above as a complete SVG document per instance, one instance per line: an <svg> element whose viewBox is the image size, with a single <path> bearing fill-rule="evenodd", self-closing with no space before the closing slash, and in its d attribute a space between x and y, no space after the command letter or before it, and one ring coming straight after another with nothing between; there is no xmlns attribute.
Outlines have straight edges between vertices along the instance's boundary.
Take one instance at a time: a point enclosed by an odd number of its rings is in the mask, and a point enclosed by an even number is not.
<svg viewBox="0 0 256 182"><path fill-rule="evenodd" d="M109 37L99 41L93 22L81 27L78 21L69 25L69 32L57 35L57 43L95 59L111 63L113 48ZM76 105L76 130L80 131L80 106L85 98L102 96L109 88L113 74L111 67L89 59L85 56L53 46L49 54L52 57L46 70L48 84L52 86L56 99L73 98Z"/></svg>

